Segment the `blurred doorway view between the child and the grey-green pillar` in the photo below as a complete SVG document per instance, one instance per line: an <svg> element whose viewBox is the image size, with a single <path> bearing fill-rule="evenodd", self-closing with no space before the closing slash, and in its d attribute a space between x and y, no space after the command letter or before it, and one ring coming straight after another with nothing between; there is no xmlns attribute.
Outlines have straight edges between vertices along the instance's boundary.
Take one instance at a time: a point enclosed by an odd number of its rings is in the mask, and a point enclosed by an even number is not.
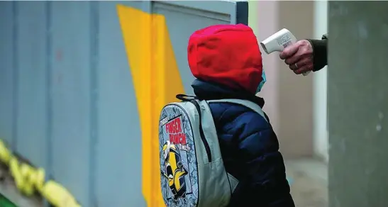
<svg viewBox="0 0 388 207"><path fill-rule="evenodd" d="M321 39L328 32L328 1L250 1L249 6L249 23L259 40L282 28L298 39ZM278 54L262 57L267 83L260 95L279 138L295 204L326 207L327 69L296 76Z"/></svg>

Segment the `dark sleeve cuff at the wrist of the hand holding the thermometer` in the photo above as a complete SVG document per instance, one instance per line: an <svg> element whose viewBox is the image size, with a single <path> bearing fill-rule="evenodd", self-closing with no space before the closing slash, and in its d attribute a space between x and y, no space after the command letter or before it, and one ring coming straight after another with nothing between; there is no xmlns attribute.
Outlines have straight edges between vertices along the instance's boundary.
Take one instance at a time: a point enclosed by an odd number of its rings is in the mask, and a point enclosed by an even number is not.
<svg viewBox="0 0 388 207"><path fill-rule="evenodd" d="M311 43L311 46L313 47L313 71L316 72L328 65L328 35L323 35L322 40L307 40Z"/></svg>

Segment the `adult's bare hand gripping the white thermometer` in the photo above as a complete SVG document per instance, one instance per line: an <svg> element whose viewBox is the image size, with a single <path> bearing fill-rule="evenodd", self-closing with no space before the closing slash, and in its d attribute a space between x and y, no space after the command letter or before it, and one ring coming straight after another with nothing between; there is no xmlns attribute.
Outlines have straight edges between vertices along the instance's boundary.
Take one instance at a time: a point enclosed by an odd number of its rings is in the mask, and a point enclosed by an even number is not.
<svg viewBox="0 0 388 207"><path fill-rule="evenodd" d="M314 68L313 47L308 40L299 40L294 45L289 45L280 52L279 57L295 74L308 72Z"/></svg>

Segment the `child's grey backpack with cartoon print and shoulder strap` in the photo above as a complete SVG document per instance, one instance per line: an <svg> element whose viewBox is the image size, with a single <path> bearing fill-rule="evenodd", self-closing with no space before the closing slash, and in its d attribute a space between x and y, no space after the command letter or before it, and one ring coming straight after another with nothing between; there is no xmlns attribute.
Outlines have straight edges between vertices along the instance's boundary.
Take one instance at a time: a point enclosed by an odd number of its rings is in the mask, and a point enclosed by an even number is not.
<svg viewBox="0 0 388 207"><path fill-rule="evenodd" d="M223 166L209 103L240 104L265 118L262 109L240 99L201 101L183 94L177 99L182 102L167 104L160 113L160 183L165 204L227 206L238 180Z"/></svg>

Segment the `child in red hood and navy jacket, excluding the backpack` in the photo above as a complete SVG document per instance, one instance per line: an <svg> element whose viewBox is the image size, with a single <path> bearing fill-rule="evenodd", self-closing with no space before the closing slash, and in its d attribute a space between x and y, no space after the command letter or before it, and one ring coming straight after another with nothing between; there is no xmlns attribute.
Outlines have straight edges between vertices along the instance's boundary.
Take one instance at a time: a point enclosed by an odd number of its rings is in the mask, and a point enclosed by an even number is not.
<svg viewBox="0 0 388 207"><path fill-rule="evenodd" d="M263 83L263 70L251 28L238 24L197 30L190 36L187 50L196 77L192 87L199 99L245 99L264 105L264 100L255 96ZM209 106L226 171L239 180L229 206L294 207L270 123L238 104Z"/></svg>

